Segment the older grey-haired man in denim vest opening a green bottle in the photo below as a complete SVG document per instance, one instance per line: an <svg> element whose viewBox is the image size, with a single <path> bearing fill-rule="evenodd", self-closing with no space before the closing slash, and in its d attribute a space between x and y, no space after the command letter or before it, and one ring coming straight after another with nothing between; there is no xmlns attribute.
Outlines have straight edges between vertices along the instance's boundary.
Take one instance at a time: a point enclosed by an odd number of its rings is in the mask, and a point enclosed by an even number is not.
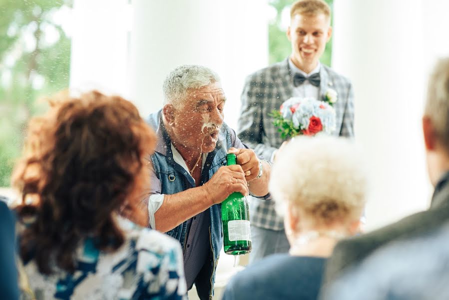
<svg viewBox="0 0 449 300"><path fill-rule="evenodd" d="M163 108L149 117L158 140L148 158L148 220L139 223L180 241L187 286L195 283L200 298L209 299L223 244L220 203L232 192L269 197L271 166L223 122L226 97L214 71L181 65L163 90ZM228 152L237 155L236 165L225 165Z"/></svg>

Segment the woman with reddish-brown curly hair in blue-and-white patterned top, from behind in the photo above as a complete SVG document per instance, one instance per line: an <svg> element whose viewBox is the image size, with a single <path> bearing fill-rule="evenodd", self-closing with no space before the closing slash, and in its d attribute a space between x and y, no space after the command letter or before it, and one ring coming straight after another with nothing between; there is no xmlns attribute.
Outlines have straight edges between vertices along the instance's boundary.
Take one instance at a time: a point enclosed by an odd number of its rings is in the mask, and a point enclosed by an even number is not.
<svg viewBox="0 0 449 300"><path fill-rule="evenodd" d="M32 119L13 173L20 265L38 299L183 298L179 242L141 229L154 132L136 107L92 91Z"/></svg>

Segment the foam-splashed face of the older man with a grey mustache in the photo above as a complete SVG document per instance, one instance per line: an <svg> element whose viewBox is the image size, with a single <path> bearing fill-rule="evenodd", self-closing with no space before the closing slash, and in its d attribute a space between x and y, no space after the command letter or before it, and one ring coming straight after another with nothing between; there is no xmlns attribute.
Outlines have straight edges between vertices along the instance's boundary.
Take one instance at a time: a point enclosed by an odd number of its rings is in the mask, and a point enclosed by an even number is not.
<svg viewBox="0 0 449 300"><path fill-rule="evenodd" d="M220 82L187 90L185 101L179 107L167 110L164 107L171 131L170 136L177 146L183 145L190 151L201 148L207 153L215 149L218 131L223 124L223 108L226 97Z"/></svg>

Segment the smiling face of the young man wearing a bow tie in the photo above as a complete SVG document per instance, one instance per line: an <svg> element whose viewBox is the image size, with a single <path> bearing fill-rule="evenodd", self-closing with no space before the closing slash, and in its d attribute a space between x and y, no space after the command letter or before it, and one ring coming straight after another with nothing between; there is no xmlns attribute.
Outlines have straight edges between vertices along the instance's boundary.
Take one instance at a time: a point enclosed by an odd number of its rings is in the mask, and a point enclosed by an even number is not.
<svg viewBox="0 0 449 300"><path fill-rule="evenodd" d="M287 37L292 43L291 59L305 72L312 71L331 38L332 27L324 13L295 14L290 20Z"/></svg>

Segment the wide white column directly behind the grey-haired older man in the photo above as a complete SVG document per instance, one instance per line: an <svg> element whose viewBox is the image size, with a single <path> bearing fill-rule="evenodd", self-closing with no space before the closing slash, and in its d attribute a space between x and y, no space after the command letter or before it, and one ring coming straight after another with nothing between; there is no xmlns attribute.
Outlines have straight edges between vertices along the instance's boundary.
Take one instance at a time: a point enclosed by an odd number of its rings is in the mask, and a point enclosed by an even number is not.
<svg viewBox="0 0 449 300"><path fill-rule="evenodd" d="M133 0L130 95L142 114L161 108L171 69L202 64L220 75L235 127L245 76L268 62L267 9L260 0Z"/></svg>

